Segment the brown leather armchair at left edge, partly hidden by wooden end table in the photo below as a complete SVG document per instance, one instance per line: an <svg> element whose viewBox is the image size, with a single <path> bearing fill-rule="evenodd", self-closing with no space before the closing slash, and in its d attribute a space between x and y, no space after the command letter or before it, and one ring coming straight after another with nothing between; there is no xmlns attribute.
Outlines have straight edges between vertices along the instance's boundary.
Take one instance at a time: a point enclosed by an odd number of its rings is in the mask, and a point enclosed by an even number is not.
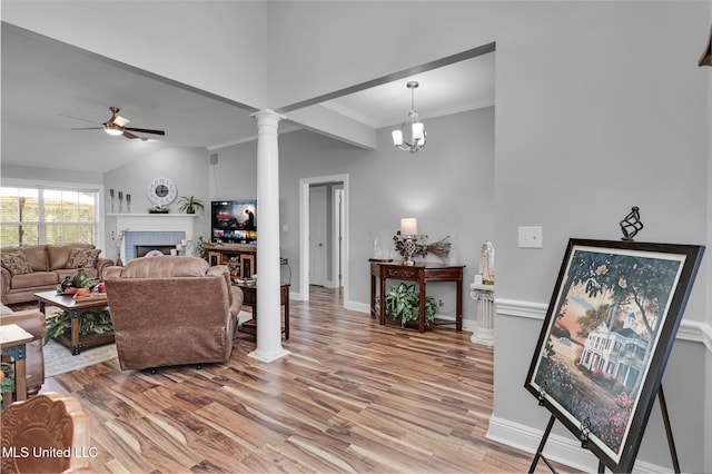
<svg viewBox="0 0 712 474"><path fill-rule="evenodd" d="M0 324L17 324L30 333L34 338L27 343L24 356L24 371L27 373L27 396L39 393L44 383L44 350L42 338L47 332L44 315L39 309L24 309L13 312L2 305L0 309Z"/></svg>

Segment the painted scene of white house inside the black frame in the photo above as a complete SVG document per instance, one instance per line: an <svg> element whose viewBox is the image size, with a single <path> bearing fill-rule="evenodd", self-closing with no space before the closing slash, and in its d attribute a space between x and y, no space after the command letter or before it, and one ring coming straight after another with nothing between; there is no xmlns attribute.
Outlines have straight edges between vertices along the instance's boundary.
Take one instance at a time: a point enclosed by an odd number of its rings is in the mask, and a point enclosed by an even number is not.
<svg viewBox="0 0 712 474"><path fill-rule="evenodd" d="M590 423L616 462L683 265L684 255L585 246L564 261L530 381L571 425Z"/></svg>

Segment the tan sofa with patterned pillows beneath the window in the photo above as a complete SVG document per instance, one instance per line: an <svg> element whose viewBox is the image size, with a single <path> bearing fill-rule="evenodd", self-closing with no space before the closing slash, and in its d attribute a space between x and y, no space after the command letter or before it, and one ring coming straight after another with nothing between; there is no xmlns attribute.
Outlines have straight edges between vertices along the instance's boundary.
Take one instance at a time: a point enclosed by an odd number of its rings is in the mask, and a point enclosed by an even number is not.
<svg viewBox="0 0 712 474"><path fill-rule="evenodd" d="M4 305L36 300L36 293L53 289L66 276L73 279L79 268L101 280L103 269L113 265L113 260L100 258L100 253L90 244L0 248L0 300Z"/></svg>

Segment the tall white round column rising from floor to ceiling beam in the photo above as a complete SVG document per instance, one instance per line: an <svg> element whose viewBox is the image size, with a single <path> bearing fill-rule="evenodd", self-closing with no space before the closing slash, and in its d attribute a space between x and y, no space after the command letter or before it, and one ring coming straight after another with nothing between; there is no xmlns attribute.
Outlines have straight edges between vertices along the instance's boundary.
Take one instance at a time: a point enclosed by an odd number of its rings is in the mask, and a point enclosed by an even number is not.
<svg viewBox="0 0 712 474"><path fill-rule="evenodd" d="M281 305L279 266L279 151L277 126L284 117L271 111L253 113L257 118L257 348L249 353L261 362L289 354L281 347Z"/></svg>

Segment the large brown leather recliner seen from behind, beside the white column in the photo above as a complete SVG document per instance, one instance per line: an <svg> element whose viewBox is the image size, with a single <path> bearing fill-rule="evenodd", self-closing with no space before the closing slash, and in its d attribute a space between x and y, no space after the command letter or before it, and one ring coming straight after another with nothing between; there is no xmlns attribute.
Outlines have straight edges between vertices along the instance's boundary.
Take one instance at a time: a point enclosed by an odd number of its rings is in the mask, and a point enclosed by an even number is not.
<svg viewBox="0 0 712 474"><path fill-rule="evenodd" d="M225 265L141 257L103 279L121 369L225 362L243 306Z"/></svg>

